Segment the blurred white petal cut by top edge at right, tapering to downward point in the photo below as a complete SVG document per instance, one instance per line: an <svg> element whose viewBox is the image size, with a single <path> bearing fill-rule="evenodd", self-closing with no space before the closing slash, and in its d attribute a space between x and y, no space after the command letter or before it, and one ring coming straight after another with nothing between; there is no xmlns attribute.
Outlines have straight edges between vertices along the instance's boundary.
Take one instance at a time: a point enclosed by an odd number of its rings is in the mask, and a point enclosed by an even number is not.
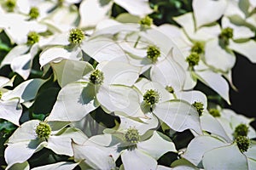
<svg viewBox="0 0 256 170"><path fill-rule="evenodd" d="M228 1L226 0L194 0L192 6L196 27L199 28L218 20L224 14L227 5Z"/></svg>

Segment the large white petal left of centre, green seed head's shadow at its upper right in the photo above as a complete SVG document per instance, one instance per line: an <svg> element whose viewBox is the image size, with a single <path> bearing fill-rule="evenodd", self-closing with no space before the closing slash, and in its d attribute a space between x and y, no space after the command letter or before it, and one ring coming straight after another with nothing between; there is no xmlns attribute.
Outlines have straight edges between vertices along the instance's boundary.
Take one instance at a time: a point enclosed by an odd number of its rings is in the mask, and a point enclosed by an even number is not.
<svg viewBox="0 0 256 170"><path fill-rule="evenodd" d="M98 106L96 91L90 83L69 83L61 88L48 121L79 121Z"/></svg>

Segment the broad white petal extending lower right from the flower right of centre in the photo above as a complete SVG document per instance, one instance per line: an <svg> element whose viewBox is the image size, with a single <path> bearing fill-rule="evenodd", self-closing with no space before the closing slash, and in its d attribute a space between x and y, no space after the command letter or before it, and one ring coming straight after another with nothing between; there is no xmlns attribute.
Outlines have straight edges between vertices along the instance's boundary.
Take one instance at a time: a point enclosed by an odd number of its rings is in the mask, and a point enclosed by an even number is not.
<svg viewBox="0 0 256 170"><path fill-rule="evenodd" d="M195 108L186 101L171 100L155 106L154 114L177 132L193 129L201 134L199 114Z"/></svg>

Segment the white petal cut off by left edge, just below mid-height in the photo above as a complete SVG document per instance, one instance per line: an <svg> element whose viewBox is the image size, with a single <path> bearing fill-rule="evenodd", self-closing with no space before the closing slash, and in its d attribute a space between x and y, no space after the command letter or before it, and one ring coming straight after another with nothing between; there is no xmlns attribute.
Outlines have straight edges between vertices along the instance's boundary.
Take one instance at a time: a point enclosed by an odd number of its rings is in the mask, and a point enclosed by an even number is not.
<svg viewBox="0 0 256 170"><path fill-rule="evenodd" d="M19 99L0 100L0 118L19 126L19 120L22 114L22 107L19 102Z"/></svg>

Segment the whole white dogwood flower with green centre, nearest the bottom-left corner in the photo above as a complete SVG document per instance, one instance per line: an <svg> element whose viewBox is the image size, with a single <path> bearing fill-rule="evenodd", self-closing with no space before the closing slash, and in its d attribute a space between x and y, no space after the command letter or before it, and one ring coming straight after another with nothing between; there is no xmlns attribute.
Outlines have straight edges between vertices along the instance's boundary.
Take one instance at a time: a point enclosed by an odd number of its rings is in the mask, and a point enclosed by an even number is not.
<svg viewBox="0 0 256 170"><path fill-rule="evenodd" d="M47 124L50 128L44 128L44 131L39 129L41 131L38 133L40 123ZM73 156L72 140L83 144L87 137L79 129L64 128L65 126L67 126L67 123L40 122L38 120L23 123L6 142L8 147L4 155L8 164L7 169L16 163L27 161L35 152L42 150L44 147L55 151L56 154ZM39 136L44 134L45 136Z"/></svg>

